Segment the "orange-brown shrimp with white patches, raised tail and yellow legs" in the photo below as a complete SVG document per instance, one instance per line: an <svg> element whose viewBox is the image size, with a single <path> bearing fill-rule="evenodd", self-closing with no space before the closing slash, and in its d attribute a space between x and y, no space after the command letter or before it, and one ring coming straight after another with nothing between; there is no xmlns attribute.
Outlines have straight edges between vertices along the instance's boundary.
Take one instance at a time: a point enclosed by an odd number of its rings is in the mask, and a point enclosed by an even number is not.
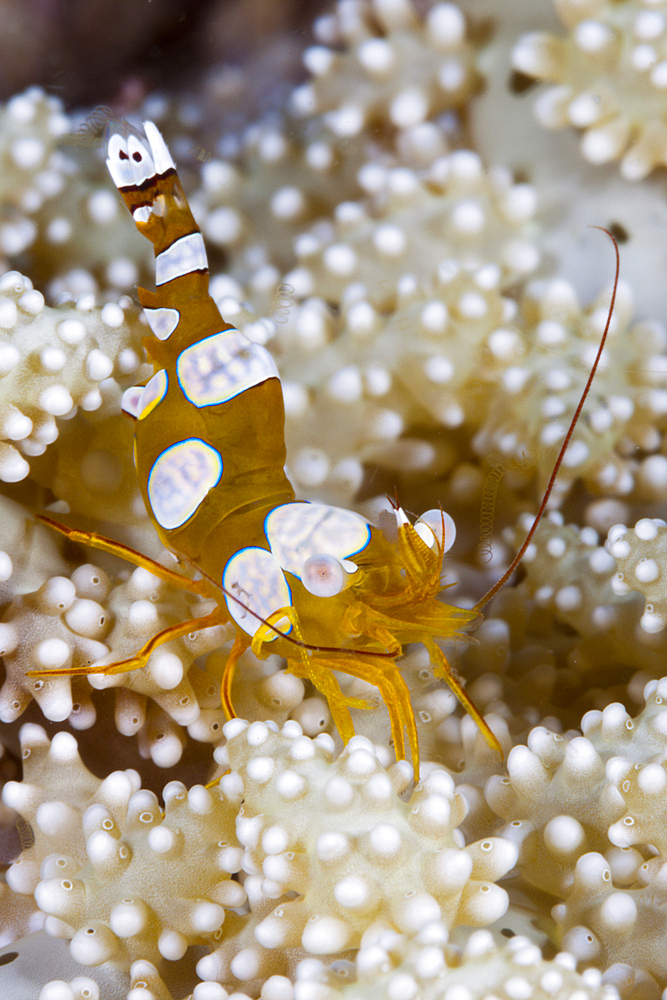
<svg viewBox="0 0 667 1000"><path fill-rule="evenodd" d="M203 238L174 162L155 125L144 127L145 138L127 127L108 141L111 176L155 249L156 290L139 289L153 333L144 344L154 374L125 393L123 408L134 420L134 460L148 514L165 546L203 578L161 575L214 596L218 607L204 619L165 629L131 660L81 672L135 669L156 645L193 625L231 620L236 641L222 679L230 717L241 653L248 647L259 656L279 653L288 670L326 696L345 742L354 733L349 707L368 706L343 695L334 671L377 686L396 755L405 756L407 732L417 770L414 713L396 661L405 643L423 642L436 675L499 749L435 641L458 635L479 617L436 599L453 522L436 511L412 525L397 507L390 538L357 513L295 500L284 471L275 362L225 322L209 295ZM109 540L86 540L150 562Z"/></svg>

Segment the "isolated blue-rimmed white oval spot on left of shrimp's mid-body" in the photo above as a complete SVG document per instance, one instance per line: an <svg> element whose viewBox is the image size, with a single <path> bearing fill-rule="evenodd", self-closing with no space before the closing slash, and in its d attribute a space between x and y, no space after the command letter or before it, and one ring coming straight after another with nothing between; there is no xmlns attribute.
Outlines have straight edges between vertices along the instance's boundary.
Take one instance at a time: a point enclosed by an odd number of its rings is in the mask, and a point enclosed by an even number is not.
<svg viewBox="0 0 667 1000"><path fill-rule="evenodd" d="M222 476L222 456L201 438L166 448L148 476L148 499L155 520L166 530L192 517Z"/></svg>

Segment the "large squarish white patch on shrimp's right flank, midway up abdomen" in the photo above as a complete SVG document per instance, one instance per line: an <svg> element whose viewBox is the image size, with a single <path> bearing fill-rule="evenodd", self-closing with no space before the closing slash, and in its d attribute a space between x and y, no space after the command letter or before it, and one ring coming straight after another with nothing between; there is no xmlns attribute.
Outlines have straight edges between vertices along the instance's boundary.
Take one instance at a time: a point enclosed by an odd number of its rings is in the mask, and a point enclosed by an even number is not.
<svg viewBox="0 0 667 1000"><path fill-rule="evenodd" d="M267 378L279 377L266 348L239 330L224 330L186 347L176 373L183 395L197 407L225 403Z"/></svg>

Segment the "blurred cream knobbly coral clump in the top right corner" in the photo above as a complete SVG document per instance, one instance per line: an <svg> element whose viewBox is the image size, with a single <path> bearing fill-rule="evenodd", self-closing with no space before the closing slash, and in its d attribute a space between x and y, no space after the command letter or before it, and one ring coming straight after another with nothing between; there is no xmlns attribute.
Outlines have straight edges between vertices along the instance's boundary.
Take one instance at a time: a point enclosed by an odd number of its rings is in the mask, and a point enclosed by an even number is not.
<svg viewBox="0 0 667 1000"><path fill-rule="evenodd" d="M518 40L515 70L548 84L535 112L547 128L583 131L591 163L621 161L638 181L667 163L667 5L661 0L558 0L569 34Z"/></svg>

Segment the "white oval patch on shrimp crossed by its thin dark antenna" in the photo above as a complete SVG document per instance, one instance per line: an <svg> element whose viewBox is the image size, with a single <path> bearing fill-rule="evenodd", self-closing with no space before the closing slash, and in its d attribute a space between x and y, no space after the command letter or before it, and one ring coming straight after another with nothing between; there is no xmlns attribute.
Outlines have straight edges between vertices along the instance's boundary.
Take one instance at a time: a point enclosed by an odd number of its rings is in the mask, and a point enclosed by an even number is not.
<svg viewBox="0 0 667 1000"><path fill-rule="evenodd" d="M266 620L275 611L292 604L292 593L280 564L266 549L249 547L233 555L225 566L222 585L228 591L225 601L229 613L247 635L254 635L260 628L260 619ZM291 630L288 624L287 619L276 623L285 634ZM271 636L267 636L267 641L271 641Z"/></svg>

